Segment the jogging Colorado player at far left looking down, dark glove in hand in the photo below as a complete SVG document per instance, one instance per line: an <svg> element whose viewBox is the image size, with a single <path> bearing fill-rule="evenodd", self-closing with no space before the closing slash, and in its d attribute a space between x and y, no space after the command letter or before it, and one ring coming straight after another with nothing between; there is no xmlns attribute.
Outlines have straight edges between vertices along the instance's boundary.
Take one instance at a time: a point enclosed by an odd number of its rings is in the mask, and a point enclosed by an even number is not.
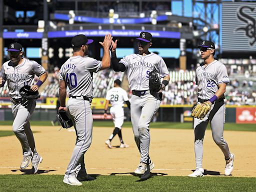
<svg viewBox="0 0 256 192"><path fill-rule="evenodd" d="M13 42L7 49L10 60L3 63L0 70L0 86L7 81L11 100L11 111L14 116L12 130L18 138L23 152L20 168L26 168L32 161L32 171L36 173L42 157L35 149L33 133L30 129L29 118L33 113L35 99L25 99L19 94L19 89L24 85L30 85L30 90L37 91L38 87L47 78L45 69L34 60L23 58L22 45ZM34 75L39 76L36 84L33 84Z"/></svg>

